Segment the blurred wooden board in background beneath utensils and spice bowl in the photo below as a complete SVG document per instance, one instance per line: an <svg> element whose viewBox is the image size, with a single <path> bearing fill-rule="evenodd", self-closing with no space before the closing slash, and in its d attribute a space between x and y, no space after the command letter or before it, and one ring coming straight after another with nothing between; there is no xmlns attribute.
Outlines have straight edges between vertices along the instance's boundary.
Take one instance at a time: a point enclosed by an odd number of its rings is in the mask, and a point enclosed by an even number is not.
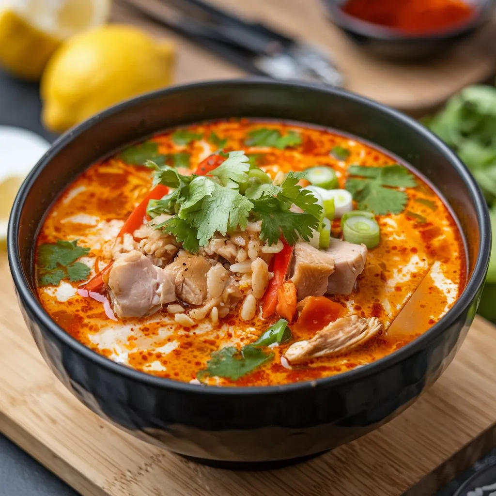
<svg viewBox="0 0 496 496"><path fill-rule="evenodd" d="M346 78L346 88L414 116L442 105L464 86L492 81L496 73L496 17L477 35L438 60L386 62L369 57L326 17L321 0L210 0L239 15L263 20L281 32L324 48ZM401 0L399 0L401 1ZM143 26L177 43L175 82L240 77L244 73L182 37L147 22L129 8L146 3L160 10L162 0L115 0L113 20Z"/></svg>

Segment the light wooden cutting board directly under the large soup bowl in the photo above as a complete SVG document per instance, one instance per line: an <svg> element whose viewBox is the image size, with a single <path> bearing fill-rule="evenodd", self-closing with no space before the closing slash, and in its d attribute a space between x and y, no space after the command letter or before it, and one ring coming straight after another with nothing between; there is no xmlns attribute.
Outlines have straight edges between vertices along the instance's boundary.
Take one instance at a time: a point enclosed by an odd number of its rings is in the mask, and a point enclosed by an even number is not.
<svg viewBox="0 0 496 496"><path fill-rule="evenodd" d="M119 431L43 362L0 254L0 431L83 496L429 496L496 445L496 327L478 317L454 362L402 415L271 472L197 465Z"/></svg>

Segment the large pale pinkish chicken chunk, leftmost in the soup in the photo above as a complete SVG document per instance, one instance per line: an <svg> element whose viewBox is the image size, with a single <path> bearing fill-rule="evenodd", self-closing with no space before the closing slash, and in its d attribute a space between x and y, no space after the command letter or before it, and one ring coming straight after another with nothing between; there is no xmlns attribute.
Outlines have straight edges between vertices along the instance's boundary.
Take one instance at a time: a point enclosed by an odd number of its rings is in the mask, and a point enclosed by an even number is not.
<svg viewBox="0 0 496 496"><path fill-rule="evenodd" d="M108 289L114 311L120 317L142 317L158 310L161 296L158 267L143 253L124 253L112 265Z"/></svg>

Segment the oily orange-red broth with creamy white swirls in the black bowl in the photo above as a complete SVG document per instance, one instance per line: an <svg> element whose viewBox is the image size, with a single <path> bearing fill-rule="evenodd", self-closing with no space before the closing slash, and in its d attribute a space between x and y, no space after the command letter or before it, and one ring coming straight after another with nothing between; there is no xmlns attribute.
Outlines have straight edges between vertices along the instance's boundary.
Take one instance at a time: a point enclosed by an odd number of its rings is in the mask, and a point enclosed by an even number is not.
<svg viewBox="0 0 496 496"><path fill-rule="evenodd" d="M247 133L257 127L273 127L287 132L295 129L303 137L302 145L279 150L248 147ZM350 164L387 165L395 160L368 144L341 136L335 132L294 124L257 123L247 120L212 122L190 126L203 139L178 146L171 140L171 132L153 137L161 153L187 152L190 167L216 151L207 141L214 131L227 138L225 150L243 149L260 154L258 165L272 177L282 170L300 171L316 164L332 167L341 187ZM346 161L335 159L329 151L336 145L351 153ZM274 348L274 359L234 384L265 385L315 379L353 369L373 362L409 343L427 331L453 305L465 285L465 252L462 238L453 218L441 199L425 182L418 179L418 187L407 189L409 202L399 215L378 217L381 242L369 250L364 272L357 289L350 296L333 296L348 311L363 316L377 316L384 324L382 334L367 345L332 358L312 360L309 364L288 370L280 357L288 344ZM148 169L125 164L117 157L89 167L61 194L47 215L38 238L41 243L79 239L79 244L91 248L82 259L92 267L102 269L108 260L103 258L102 246L112 243L123 221L149 190L151 175ZM419 199L434 203L434 209ZM422 215L421 223L408 211ZM333 235L339 236L339 222L334 223ZM433 265L434 264L434 265ZM431 284L424 302L415 314L416 331L411 334L390 335L387 327L408 301L420 281L427 277ZM256 340L272 321L255 320L248 325L237 316L228 316L218 326L205 321L184 329L170 315L161 311L146 319L123 319L113 322L106 317L100 303L82 298L75 291L77 284L62 282L59 287L38 288L45 310L70 335L92 350L137 370L154 375L190 381L205 368L213 351L225 345L241 346ZM294 340L310 337L309 331L293 326ZM219 379L220 384L233 384Z"/></svg>

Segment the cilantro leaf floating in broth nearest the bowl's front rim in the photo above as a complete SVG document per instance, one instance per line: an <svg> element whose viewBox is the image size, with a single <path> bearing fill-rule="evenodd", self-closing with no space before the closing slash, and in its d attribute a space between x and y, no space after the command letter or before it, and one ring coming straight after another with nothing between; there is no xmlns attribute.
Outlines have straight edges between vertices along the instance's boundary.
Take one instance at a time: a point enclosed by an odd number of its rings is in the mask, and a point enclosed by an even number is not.
<svg viewBox="0 0 496 496"><path fill-rule="evenodd" d="M256 346L247 345L241 351L229 346L212 353L206 369L200 371L198 378L201 380L205 375L209 375L238 380L265 362L272 360L273 357L273 353L265 353Z"/></svg>

